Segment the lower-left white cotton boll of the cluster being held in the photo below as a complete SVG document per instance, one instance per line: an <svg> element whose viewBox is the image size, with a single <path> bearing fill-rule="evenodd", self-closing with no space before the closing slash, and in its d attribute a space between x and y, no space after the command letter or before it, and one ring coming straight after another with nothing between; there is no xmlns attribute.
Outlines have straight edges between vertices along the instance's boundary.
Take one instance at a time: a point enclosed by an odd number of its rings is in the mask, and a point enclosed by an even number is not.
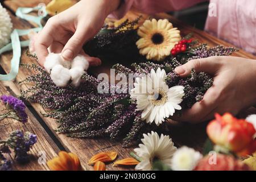
<svg viewBox="0 0 256 182"><path fill-rule="evenodd" d="M64 87L67 86L71 75L68 68L64 68L62 65L57 64L52 68L51 79L56 86Z"/></svg>

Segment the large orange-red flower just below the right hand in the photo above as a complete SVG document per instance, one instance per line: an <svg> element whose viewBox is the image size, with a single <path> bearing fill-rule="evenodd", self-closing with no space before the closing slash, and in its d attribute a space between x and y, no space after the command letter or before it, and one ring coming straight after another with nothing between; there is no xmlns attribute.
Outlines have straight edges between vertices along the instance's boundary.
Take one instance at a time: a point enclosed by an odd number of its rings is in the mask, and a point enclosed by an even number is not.
<svg viewBox="0 0 256 182"><path fill-rule="evenodd" d="M256 140L253 138L256 131L251 123L229 113L222 117L216 114L215 117L207 126L207 134L214 144L238 155L248 155L256 150Z"/></svg>

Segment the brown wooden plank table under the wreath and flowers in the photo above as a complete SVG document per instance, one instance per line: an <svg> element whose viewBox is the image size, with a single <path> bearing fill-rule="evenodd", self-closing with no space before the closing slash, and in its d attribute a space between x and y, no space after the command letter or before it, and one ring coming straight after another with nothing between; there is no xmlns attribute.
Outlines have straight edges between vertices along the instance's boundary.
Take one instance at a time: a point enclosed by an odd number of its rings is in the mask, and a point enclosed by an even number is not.
<svg viewBox="0 0 256 182"><path fill-rule="evenodd" d="M1 1L2 5L7 8L11 16L14 28L32 28L35 24L26 22L25 20L15 17L15 11L18 7L34 7L40 2L48 3L50 0L13 0L13 1ZM138 13L131 12L127 15L129 18L134 18L138 16ZM144 15L147 16L147 15ZM173 18L167 14L156 14L156 18L168 18L178 27L183 35L193 32L195 38L200 42L208 43L209 46L216 46L217 44L222 44L224 46L232 46L220 39L215 38L207 34L206 32L197 30L196 28L187 26L179 22L179 20ZM26 37L22 37L22 40ZM37 64L35 60L30 59L24 53L26 49L22 50L21 63ZM243 50L233 54L234 56L247 57L250 59L256 59L255 56L247 53ZM0 57L0 72L9 73L10 72L10 60L12 57L12 52L7 52ZM109 72L110 65L104 64L101 67L94 70L94 72ZM14 81L1 81L0 82L0 95L2 94L12 94L18 96L21 90L26 90L31 85L22 84L19 85L18 82L23 80L28 75L33 74L32 71L20 67L19 74ZM19 122L15 122L13 119L4 119L0 122L0 139L6 139L7 135L16 129L25 129L26 131L31 131L38 136L38 142L32 148L30 152L31 162L26 165L20 165L14 162L14 169L18 170L48 170L46 164L38 164L38 158L42 155L40 151L45 152L46 160L52 159L56 156L60 150L70 151L77 154L81 160L81 164L85 169L93 169L92 166L88 166L88 160L92 155L101 151L116 151L118 152L118 159L129 157L129 152L133 148L123 148L121 144L110 142L109 139L77 139L68 138L64 134L57 134L54 130L57 128L57 123L54 119L43 117L41 113L46 113L46 111L39 104L30 103L28 106L27 113L29 115L29 121L25 126L21 125ZM256 109L251 107L250 109L243 111L240 116L246 117L246 115L256 113ZM206 139L205 126L207 123L201 123L198 125L174 125L170 126L170 137L174 140L177 147L187 145L193 147L197 150L201 150L204 140ZM13 159L13 156L9 156ZM133 168L123 168L123 167L112 167L112 164L107 165L108 170L125 170Z"/></svg>

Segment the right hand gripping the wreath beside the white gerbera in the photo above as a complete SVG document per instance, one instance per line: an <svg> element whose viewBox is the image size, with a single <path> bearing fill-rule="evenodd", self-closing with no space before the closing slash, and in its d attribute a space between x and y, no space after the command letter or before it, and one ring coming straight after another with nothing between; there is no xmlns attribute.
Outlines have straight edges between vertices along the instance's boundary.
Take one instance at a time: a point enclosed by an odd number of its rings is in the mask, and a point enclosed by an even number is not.
<svg viewBox="0 0 256 182"><path fill-rule="evenodd" d="M214 56L191 60L175 69L182 77L191 69L214 76L213 86L207 90L202 101L183 112L176 121L202 122L212 119L214 113L237 114L256 104L256 60L241 57Z"/></svg>

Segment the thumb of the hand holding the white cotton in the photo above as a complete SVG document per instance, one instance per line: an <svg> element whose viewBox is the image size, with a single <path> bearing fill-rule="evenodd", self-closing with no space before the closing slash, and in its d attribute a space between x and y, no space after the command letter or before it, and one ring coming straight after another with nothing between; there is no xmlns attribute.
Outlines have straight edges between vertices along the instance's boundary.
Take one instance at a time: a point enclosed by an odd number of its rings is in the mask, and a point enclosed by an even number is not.
<svg viewBox="0 0 256 182"><path fill-rule="evenodd" d="M75 34L68 40L67 44L65 44L63 50L61 51L61 56L63 59L72 60L74 57L76 57L87 39L86 32L82 31L81 29L77 29Z"/></svg>

